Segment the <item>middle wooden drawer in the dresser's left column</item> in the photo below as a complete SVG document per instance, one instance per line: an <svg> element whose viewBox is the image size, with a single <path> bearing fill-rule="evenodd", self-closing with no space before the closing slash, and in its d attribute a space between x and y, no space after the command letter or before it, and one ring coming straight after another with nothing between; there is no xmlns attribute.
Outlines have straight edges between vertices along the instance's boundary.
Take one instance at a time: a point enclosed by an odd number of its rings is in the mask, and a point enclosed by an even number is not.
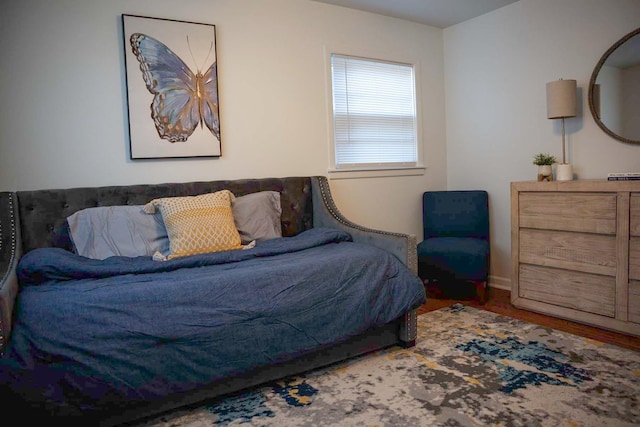
<svg viewBox="0 0 640 427"><path fill-rule="evenodd" d="M616 275L616 238L605 234L520 230L520 262Z"/></svg>

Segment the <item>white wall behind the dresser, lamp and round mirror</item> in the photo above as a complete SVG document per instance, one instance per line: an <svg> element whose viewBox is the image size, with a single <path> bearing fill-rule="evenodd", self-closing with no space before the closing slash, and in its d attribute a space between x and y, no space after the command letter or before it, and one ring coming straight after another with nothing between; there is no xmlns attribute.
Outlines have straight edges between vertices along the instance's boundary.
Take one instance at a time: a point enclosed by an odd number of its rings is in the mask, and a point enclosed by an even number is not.
<svg viewBox="0 0 640 427"><path fill-rule="evenodd" d="M509 183L536 179L534 154L562 156L547 82L578 82L579 116L566 126L579 179L640 170L640 145L607 136L588 106L598 60L639 25L638 0L520 0L444 30L447 184L489 191L494 281L510 281Z"/></svg>

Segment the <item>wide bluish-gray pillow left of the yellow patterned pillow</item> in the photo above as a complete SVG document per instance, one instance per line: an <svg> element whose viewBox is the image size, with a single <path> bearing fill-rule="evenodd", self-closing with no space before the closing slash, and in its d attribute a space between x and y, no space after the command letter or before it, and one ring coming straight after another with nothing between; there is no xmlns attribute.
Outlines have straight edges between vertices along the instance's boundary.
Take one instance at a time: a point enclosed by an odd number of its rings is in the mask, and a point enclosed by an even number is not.
<svg viewBox="0 0 640 427"><path fill-rule="evenodd" d="M162 217L145 213L142 206L87 208L67 217L67 223L75 252L84 257L169 254Z"/></svg>

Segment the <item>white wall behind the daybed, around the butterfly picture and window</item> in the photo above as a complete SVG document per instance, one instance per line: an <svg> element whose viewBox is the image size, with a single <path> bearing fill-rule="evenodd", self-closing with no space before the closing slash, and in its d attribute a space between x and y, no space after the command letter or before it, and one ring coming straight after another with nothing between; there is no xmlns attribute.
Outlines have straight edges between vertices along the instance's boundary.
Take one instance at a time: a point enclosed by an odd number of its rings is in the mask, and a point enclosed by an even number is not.
<svg viewBox="0 0 640 427"><path fill-rule="evenodd" d="M343 214L421 237L446 187L442 30L310 0L22 0L0 18L0 189L327 175L325 47L415 60L424 176L331 181ZM129 160L121 14L216 25L222 157Z"/></svg>

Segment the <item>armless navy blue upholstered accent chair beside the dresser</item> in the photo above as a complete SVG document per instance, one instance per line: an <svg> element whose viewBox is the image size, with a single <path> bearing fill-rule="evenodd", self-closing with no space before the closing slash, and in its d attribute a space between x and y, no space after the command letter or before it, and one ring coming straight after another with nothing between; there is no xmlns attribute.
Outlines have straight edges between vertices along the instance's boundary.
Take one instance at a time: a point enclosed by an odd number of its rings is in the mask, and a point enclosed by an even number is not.
<svg viewBox="0 0 640 427"><path fill-rule="evenodd" d="M427 191L422 195L422 224L424 240L417 249L423 282L473 282L484 304L490 265L487 192Z"/></svg>

